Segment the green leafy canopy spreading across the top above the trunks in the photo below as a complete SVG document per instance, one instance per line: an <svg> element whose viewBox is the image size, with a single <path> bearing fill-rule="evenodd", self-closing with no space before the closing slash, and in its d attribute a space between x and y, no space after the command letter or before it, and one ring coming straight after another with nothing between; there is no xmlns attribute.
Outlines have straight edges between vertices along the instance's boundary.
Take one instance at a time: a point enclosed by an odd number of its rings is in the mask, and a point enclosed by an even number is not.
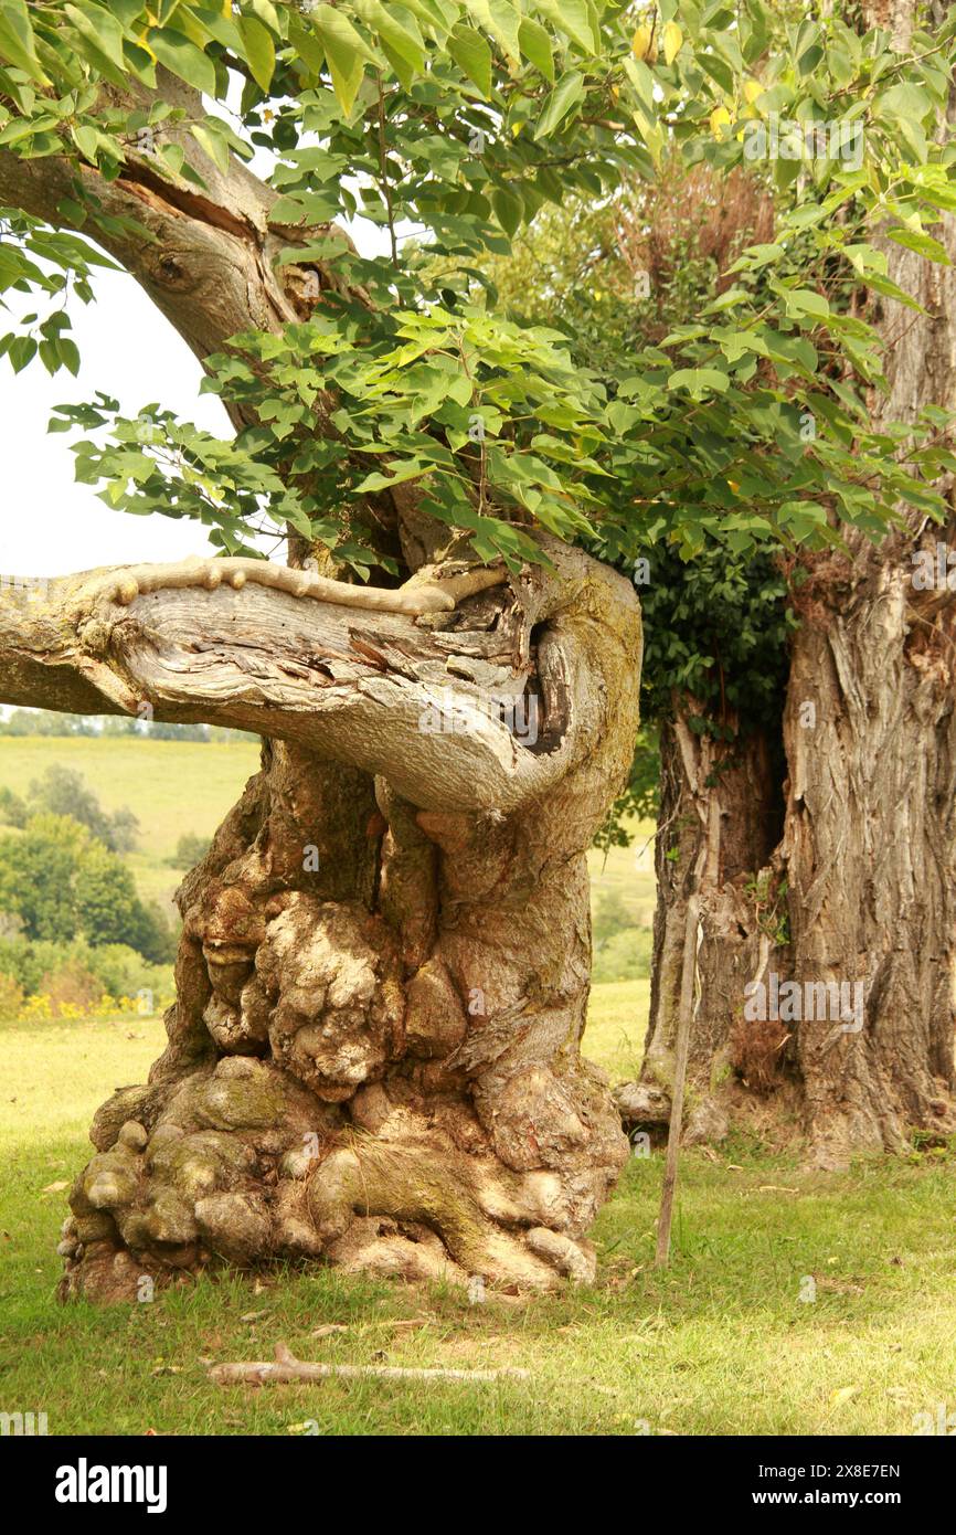
<svg viewBox="0 0 956 1535"><path fill-rule="evenodd" d="M58 427L92 433L80 477L110 503L198 517L224 550L292 525L359 569L381 563L361 508L397 484L509 563L531 522L595 531L612 559L657 540L684 560L712 540L815 546L839 523L879 536L901 505L942 516L948 416L873 430L853 381L884 385L879 339L835 292L919 307L878 226L945 261L954 61L956 15L898 52L884 29L761 0L0 0L0 152L77 172L63 227L5 215L0 282L49 313L2 345L17 370L75 368L64 301L89 299L104 261L86 236L117 233L81 166L110 181L146 157L201 190L258 154L279 262L336 281L307 321L209 361L209 387L255 419L232 442L161 405L135 421L104 394L64 408ZM192 109L164 100L161 71L203 94ZM776 198L773 239L692 322L598 378L560 333L505 321L493 287L476 301L482 258L545 204L611 201L674 155L720 177L744 166ZM325 227L353 218L385 255Z"/></svg>

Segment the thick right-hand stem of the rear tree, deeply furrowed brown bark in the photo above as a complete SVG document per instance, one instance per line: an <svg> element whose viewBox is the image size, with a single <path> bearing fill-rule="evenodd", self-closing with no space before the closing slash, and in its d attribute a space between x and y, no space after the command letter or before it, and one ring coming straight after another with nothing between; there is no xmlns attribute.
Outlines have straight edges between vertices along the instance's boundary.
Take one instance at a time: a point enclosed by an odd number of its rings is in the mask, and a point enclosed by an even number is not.
<svg viewBox="0 0 956 1535"><path fill-rule="evenodd" d="M935 6L933 25L947 9ZM879 14L905 45L911 0ZM956 221L936 233L953 259ZM890 391L870 404L876 421L911 421L925 404L956 404L956 278L892 241L885 252L927 313L882 302ZM945 588L916 591L911 557L951 539L951 527L913 522L910 537L878 550L853 540L852 562L812 571L795 637L784 720L793 975L865 989L859 1033L798 1036L822 1165L898 1150L910 1127L956 1128L956 602ZM796 721L801 700L816 703L812 731Z"/></svg>

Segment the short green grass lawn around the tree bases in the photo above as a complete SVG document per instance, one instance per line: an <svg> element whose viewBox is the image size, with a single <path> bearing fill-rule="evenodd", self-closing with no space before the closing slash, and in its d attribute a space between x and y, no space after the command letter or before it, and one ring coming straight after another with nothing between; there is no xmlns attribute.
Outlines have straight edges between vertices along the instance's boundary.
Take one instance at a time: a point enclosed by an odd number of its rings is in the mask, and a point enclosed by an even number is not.
<svg viewBox="0 0 956 1535"><path fill-rule="evenodd" d="M588 1050L612 1076L631 1073L644 1012L646 982L595 990ZM740 1141L689 1151L666 1273L651 1266L661 1159L634 1157L597 1225L597 1283L562 1296L470 1305L316 1269L58 1306L54 1246L92 1110L160 1044L152 1019L0 1025L0 1411L45 1411L51 1434L368 1435L911 1434L915 1414L956 1411L945 1154L842 1176ZM345 1331L312 1335L330 1323ZM532 1378L207 1382L209 1362L269 1358L278 1340L301 1358Z"/></svg>

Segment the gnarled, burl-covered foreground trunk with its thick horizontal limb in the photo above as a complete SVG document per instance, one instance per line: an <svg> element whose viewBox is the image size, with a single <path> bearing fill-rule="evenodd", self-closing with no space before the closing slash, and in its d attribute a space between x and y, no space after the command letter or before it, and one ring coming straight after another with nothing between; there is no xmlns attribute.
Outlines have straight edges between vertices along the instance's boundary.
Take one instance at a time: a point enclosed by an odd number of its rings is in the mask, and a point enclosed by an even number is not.
<svg viewBox="0 0 956 1535"><path fill-rule="evenodd" d="M178 895L169 1045L97 1114L64 1296L278 1259L592 1274L628 1144L580 1056L586 852L631 763L640 609L542 543L551 568L419 573L368 611L201 565L5 602L9 701L267 737Z"/></svg>

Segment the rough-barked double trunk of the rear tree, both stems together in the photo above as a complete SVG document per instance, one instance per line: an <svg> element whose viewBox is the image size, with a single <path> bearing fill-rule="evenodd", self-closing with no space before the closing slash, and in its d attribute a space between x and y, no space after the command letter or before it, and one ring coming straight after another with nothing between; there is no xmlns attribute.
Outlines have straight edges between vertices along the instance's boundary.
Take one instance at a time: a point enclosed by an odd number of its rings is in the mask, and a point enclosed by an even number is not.
<svg viewBox="0 0 956 1535"><path fill-rule="evenodd" d="M947 11L931 6L931 25ZM911 0L869 14L905 46ZM936 236L953 259L956 221L941 218ZM913 421L925 404L956 404L956 269L892 241L884 249L890 276L927 313L882 301L875 321L887 342L890 391L875 393L870 405L875 421ZM758 1090L793 1079L810 1156L822 1167L842 1167L859 1151L898 1151L913 1128L956 1130L956 596L945 585L913 586L915 551L935 562L938 543L951 548L954 539L951 523L913 520L908 534L878 548L850 536L850 559L807 560L783 721L780 846L761 847L767 792L763 784L753 792L752 772L706 791L721 824L730 801L750 823L738 866L749 883L772 892L786 880L787 923L778 924L781 903L767 923L766 903L744 898L740 878L727 884L721 870L707 889L704 876L704 927L715 944L701 962L692 1078L703 1093L730 1062ZM641 1081L617 1094L635 1124L669 1116L683 904L709 814L695 795L700 781L687 752L674 749L674 732L666 734L661 823L674 824L658 838L648 1056ZM663 855L672 847L678 857L669 864ZM743 985L770 972L781 984L798 982L804 996L826 982L861 984L864 1027L846 1028L832 1016L746 1022ZM718 1096L724 1107L733 1101L730 1087ZM784 1091L780 1102L793 1096ZM720 1108L704 1104L697 1131L724 1127Z"/></svg>

